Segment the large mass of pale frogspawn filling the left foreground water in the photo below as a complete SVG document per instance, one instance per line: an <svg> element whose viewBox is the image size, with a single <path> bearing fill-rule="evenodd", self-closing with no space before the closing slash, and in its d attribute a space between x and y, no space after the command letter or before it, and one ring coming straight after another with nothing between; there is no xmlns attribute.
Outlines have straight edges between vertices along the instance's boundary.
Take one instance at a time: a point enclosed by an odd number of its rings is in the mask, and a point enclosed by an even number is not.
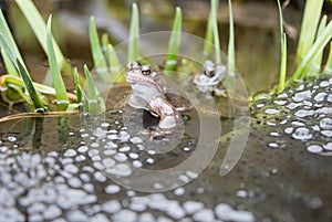
<svg viewBox="0 0 332 222"><path fill-rule="evenodd" d="M10 133L3 137L0 221L255 221L252 213L224 202L208 207L181 199L193 192L185 187L146 194L114 183L105 169L123 176L131 173L125 167L129 163L137 168L158 163L156 151L146 150L143 139L131 136L120 121L81 128L69 136L77 142L64 141L65 149L30 151L19 147L22 138ZM191 146L189 140L184 147ZM207 194L203 189L196 193Z"/></svg>

